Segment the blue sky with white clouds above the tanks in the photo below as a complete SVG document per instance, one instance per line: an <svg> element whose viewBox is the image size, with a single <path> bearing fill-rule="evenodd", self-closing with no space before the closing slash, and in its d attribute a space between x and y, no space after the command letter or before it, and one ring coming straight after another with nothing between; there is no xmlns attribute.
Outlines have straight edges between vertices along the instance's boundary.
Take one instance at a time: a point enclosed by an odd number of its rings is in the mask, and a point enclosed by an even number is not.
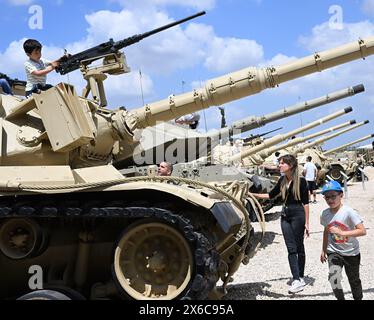
<svg viewBox="0 0 374 320"><path fill-rule="evenodd" d="M44 45L43 56L53 59L64 48L75 53L113 37L115 40L142 33L181 19L200 10L207 14L181 27L127 48L132 73L107 80L110 105L142 105L138 70L142 70L145 101L152 102L174 93L192 90L205 80L247 66L278 65L325 50L359 37L374 35L374 0L296 1L296 0L0 0L2 34L0 71L24 78L22 43L36 38ZM30 29L33 5L43 10L43 28ZM331 6L342 11L342 29L331 30ZM5 29L5 32L4 32ZM283 132L301 123L314 121L327 113L351 105L354 113L318 127L355 118L371 124L331 140L325 148L374 133L374 57L282 84L226 105L228 123L249 115L263 115L292 105L364 83L366 93L315 111L255 130L259 133L283 126ZM70 81L78 91L84 85L80 74L49 76L53 84ZM182 82L185 83L182 85ZM205 111L208 129L217 128L220 115L216 107ZM203 115L204 115L203 114ZM204 126L200 127L204 130ZM365 143L364 143L365 144Z"/></svg>

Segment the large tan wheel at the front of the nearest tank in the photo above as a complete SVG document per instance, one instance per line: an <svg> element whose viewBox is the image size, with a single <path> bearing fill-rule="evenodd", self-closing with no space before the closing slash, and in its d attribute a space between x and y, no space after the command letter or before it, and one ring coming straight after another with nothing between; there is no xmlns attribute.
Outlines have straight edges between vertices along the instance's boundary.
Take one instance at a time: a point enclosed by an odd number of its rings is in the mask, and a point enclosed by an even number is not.
<svg viewBox="0 0 374 320"><path fill-rule="evenodd" d="M132 298L174 299L191 281L194 259L183 235L162 222L132 225L117 244L115 275Z"/></svg>

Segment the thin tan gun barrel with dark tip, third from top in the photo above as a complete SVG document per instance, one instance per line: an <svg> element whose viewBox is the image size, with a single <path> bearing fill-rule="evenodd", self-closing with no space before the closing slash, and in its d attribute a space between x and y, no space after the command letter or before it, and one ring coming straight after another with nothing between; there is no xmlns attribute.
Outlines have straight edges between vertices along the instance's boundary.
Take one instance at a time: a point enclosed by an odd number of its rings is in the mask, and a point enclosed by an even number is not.
<svg viewBox="0 0 374 320"><path fill-rule="evenodd" d="M241 159L243 159L245 157L253 155L253 154L255 154L255 153L259 152L259 151L262 151L264 149L270 148L270 147L272 147L272 146L274 146L274 145L276 145L276 144L278 144L278 143L280 143L280 142L282 142L282 141L284 141L284 140L286 140L288 138L291 138L292 136L295 136L295 135L297 135L299 133L302 133L304 131L312 129L312 128L316 127L316 126L319 126L319 125L321 125L321 124L323 124L323 123L325 123L327 121L333 120L333 119L335 119L337 117L340 117L340 116L342 116L342 115L344 115L346 113L349 113L351 111L352 111L352 108L348 107L348 108L345 108L345 109L340 110L338 112L335 112L333 114L330 114L330 115L328 115L326 117L323 117L323 118L321 118L319 120L311 122L311 123L309 123L309 124L307 124L307 125L305 125L305 126L303 126L301 128L292 130L292 131L290 131L288 133L285 133L285 134L276 135L276 136L274 136L274 137L272 137L270 139L265 140L260 145L257 145L257 146L255 146L253 148L249 148L247 150L244 150L244 151L242 151L242 152L240 152L240 153L232 156L230 158L230 161L231 162L240 161Z"/></svg>

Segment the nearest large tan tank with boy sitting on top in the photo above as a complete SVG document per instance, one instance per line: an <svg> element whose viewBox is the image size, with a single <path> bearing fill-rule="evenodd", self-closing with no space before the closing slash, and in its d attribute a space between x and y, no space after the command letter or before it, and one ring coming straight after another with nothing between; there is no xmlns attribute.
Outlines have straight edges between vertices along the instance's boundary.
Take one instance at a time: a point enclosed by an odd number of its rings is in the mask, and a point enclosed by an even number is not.
<svg viewBox="0 0 374 320"><path fill-rule="evenodd" d="M63 83L23 101L1 95L1 298L18 298L35 283L47 291L32 299L56 291L92 299L217 297L218 280L225 287L246 258L246 190L229 194L152 173L123 178L110 165L115 152L131 156L136 129L374 53L372 37L279 67L243 69L135 110L105 108L106 74L129 71L118 50L142 38L61 61L61 73L80 67L83 97ZM128 149L114 150L118 141Z"/></svg>

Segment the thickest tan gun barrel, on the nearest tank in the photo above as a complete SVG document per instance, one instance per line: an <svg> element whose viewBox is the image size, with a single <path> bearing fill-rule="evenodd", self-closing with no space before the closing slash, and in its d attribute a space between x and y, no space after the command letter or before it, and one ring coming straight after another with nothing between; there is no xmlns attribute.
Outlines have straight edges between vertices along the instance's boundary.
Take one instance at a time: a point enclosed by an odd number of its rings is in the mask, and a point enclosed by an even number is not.
<svg viewBox="0 0 374 320"><path fill-rule="evenodd" d="M130 130L170 121L210 106L238 100L281 83L374 54L374 36L295 60L278 67L245 68L211 79L202 88L133 110ZM135 120L135 121L134 121Z"/></svg>

